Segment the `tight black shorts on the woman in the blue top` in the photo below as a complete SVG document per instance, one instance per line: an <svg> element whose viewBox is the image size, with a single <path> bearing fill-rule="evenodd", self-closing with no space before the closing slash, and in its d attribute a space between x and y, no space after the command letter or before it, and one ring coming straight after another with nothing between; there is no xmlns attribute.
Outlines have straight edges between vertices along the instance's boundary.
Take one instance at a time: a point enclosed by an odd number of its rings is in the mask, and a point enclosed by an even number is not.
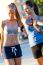
<svg viewBox="0 0 43 65"><path fill-rule="evenodd" d="M35 59L40 58L42 56L41 45L32 47L32 53Z"/></svg>

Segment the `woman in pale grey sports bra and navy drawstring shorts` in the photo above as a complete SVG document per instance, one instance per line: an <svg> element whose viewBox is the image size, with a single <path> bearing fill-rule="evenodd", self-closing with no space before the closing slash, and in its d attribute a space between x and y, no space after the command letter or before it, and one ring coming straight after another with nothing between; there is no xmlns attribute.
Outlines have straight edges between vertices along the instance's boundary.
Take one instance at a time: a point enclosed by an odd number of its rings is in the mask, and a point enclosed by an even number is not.
<svg viewBox="0 0 43 65"><path fill-rule="evenodd" d="M3 53L6 65L21 65L22 51L18 44L18 27L23 32L24 26L21 22L16 5L8 5L9 19L2 21L1 25L1 53Z"/></svg>

